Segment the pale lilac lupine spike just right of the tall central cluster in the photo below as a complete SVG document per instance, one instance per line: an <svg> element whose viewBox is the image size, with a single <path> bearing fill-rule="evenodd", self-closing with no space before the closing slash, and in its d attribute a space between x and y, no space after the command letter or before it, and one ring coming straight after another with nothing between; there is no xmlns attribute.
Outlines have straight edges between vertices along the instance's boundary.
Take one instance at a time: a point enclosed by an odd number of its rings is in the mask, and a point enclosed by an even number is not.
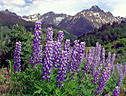
<svg viewBox="0 0 126 96"><path fill-rule="evenodd" d="M91 50L89 50L89 55L88 55L88 58L87 58L86 67L84 69L84 74L89 72L91 64L92 64L92 60L93 60L93 58L91 56Z"/></svg>

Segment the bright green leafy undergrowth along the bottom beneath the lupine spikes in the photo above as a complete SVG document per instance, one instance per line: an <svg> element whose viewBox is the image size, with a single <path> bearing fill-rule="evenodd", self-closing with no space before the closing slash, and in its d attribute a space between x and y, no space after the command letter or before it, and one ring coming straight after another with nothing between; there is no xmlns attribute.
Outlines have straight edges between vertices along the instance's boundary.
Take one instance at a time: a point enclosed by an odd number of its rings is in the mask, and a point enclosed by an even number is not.
<svg viewBox="0 0 126 96"><path fill-rule="evenodd" d="M92 83L93 76L83 74L86 60L83 60L81 71L75 72L73 75L67 73L63 87L57 86L58 68L53 69L50 74L50 81L42 81L42 64L36 65L34 68L29 64L24 72L16 72L11 74L11 92L10 95L23 96L95 96L94 92L98 84ZM69 77L72 76L73 79ZM111 94L114 90L118 76L111 76L104 88L103 95L108 92Z"/></svg>

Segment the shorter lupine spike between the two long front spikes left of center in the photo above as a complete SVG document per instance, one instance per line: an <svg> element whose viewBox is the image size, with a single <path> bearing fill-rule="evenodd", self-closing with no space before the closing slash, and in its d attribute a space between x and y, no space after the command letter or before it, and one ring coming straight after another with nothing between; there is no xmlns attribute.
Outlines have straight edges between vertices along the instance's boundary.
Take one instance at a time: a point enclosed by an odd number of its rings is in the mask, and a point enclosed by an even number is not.
<svg viewBox="0 0 126 96"><path fill-rule="evenodd" d="M61 45L61 42L58 42L58 41L54 41L53 42L53 66L55 68L57 68L59 66L59 61L60 61L60 51L62 50L60 45Z"/></svg>

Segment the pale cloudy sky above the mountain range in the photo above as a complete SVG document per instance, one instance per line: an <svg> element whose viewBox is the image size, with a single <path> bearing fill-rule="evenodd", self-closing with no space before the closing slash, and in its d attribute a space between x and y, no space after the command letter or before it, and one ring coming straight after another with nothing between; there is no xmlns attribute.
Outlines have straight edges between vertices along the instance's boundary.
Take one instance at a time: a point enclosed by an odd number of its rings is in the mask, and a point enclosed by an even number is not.
<svg viewBox="0 0 126 96"><path fill-rule="evenodd" d="M9 9L20 16L49 11L75 15L93 5L114 16L126 17L126 0L0 0L0 10Z"/></svg>

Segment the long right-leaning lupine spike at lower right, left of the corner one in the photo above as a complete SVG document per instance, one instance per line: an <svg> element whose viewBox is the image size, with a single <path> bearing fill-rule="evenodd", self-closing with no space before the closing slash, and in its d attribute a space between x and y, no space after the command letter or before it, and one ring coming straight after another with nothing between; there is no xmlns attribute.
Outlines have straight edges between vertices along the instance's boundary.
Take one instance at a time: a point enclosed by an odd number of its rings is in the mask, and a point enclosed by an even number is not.
<svg viewBox="0 0 126 96"><path fill-rule="evenodd" d="M107 80L110 78L110 73L111 73L111 64L108 64L108 67L105 67L106 70L103 71L102 73L102 77L100 78L99 81L99 86L97 88L97 91L95 91L95 95L101 95L103 92L103 88L105 87L105 84L107 82Z"/></svg>

